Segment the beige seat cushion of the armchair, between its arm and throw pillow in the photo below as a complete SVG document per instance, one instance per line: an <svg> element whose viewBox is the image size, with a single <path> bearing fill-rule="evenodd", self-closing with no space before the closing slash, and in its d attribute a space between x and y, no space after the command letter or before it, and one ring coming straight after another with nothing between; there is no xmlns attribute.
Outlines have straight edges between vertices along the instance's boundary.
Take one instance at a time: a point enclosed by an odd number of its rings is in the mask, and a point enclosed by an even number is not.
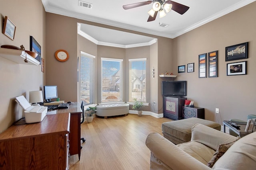
<svg viewBox="0 0 256 170"><path fill-rule="evenodd" d="M177 147L205 165L209 162L212 158L212 154L215 152L215 150L195 141L181 143L178 144Z"/></svg>

